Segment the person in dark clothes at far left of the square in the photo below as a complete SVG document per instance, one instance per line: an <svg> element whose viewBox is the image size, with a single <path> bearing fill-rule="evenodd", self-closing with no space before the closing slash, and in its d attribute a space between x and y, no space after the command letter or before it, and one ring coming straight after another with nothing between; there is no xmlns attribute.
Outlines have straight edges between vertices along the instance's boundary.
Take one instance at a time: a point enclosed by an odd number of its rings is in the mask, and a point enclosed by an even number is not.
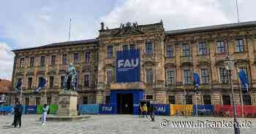
<svg viewBox="0 0 256 134"><path fill-rule="evenodd" d="M14 127L19 125L21 127L21 116L22 116L23 106L20 104L20 101L16 102L14 107Z"/></svg>

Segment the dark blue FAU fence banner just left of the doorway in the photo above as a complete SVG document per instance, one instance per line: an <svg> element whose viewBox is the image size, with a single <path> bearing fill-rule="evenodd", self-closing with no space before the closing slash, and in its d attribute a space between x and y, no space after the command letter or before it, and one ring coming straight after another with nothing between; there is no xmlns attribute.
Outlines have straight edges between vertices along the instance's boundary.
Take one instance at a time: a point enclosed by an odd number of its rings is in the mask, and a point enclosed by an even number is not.
<svg viewBox="0 0 256 134"><path fill-rule="evenodd" d="M99 104L99 114L117 114L116 105Z"/></svg>

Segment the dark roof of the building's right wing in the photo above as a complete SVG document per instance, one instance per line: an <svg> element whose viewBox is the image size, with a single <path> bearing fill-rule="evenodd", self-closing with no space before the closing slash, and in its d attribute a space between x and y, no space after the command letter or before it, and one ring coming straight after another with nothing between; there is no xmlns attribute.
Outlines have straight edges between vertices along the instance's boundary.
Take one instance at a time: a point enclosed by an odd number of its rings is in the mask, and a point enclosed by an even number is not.
<svg viewBox="0 0 256 134"><path fill-rule="evenodd" d="M248 21L244 23L230 23L230 24L222 24L222 25L211 25L211 26L203 26L198 28L186 28L179 29L173 31L165 31L167 35L178 35L178 34L186 34L186 33L201 33L208 31L217 31L217 30L225 30L231 28L246 28L256 26L256 21Z"/></svg>

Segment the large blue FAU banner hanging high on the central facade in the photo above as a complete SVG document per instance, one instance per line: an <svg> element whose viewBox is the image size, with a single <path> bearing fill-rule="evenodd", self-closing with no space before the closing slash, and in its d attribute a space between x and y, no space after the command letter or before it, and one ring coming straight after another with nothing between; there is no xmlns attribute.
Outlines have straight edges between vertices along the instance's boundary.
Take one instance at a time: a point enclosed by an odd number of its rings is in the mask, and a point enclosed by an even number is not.
<svg viewBox="0 0 256 134"><path fill-rule="evenodd" d="M140 82L140 50L116 53L116 82Z"/></svg>

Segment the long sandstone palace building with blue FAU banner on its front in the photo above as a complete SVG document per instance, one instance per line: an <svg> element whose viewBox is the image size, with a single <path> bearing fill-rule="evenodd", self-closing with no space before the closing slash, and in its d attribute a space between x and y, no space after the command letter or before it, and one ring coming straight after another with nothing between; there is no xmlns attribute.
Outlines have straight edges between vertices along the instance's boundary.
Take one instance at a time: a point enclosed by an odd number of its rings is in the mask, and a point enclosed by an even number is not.
<svg viewBox="0 0 256 134"><path fill-rule="evenodd" d="M23 82L23 104L45 101L45 89L35 94L45 77L48 104L58 104L69 63L78 71L78 104L115 103L127 113L140 100L195 104L192 73L200 75L197 104L230 105L230 80L225 58L235 59L235 103L241 104L238 69L249 79L245 105L256 105L256 21L165 31L160 23L121 24L99 36L72 42L13 50L12 87ZM186 99L184 90L187 91ZM12 103L19 95L12 95ZM186 102L185 102L186 100ZM123 109L123 110L119 110Z"/></svg>

